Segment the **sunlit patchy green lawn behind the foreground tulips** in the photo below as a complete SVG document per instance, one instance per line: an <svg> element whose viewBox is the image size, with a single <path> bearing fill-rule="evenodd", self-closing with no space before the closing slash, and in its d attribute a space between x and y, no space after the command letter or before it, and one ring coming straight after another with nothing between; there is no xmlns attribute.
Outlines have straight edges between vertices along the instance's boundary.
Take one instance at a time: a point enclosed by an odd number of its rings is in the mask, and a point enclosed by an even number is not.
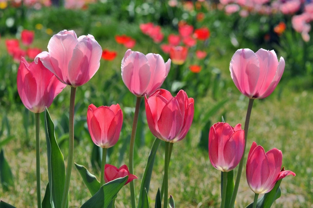
<svg viewBox="0 0 313 208"><path fill-rule="evenodd" d="M114 23L111 23L114 24ZM138 27L134 24L122 23L123 29ZM116 29L116 27L115 27ZM118 30L118 29L117 29ZM80 34L81 35L81 34ZM2 37L5 39L6 37ZM49 37L43 36L36 39L34 46L45 49ZM148 39L146 37L138 41L134 50L143 53L150 52L147 49ZM221 82L219 84L218 100L213 99L213 89L210 88L205 96L195 98L195 106L199 112L207 112L218 101L227 97L228 102L218 110L212 117L208 118L211 123L221 120L223 115L226 122L232 126L237 123L244 124L248 98L242 96L233 85L228 70L229 61L235 52L235 49L225 48L221 55L221 44L223 41L211 41L208 52L212 54L209 69L218 68L221 71ZM101 60L100 69L94 78L85 86L78 89L76 103L83 103L75 115L78 121L80 117L85 117L87 103L99 105L110 105L120 101L116 91L107 91L104 83L112 77L115 72L120 71L120 60L126 49L115 44L114 40L103 39L99 41L102 48L115 49L118 57L113 62ZM156 47L152 49L157 51ZM5 54L4 46L0 46L0 55ZM286 60L288 64L288 60ZM121 82L121 77L112 86L118 88L126 87ZM208 77L208 80L211 77ZM301 83L301 81L298 81ZM293 85L292 81L280 82L272 95L264 100L254 101L252 109L249 136L247 148L249 150L253 141L262 145L265 151L271 148L278 148L283 152L283 166L285 169L294 171L295 177L288 176L281 183L282 196L275 202L275 207L313 207L313 91L311 88L299 88ZM109 90L113 88L110 86ZM125 90L124 89L124 90ZM185 89L188 91L188 86ZM127 141L126 137L131 131L132 113L131 109L135 107L135 98L128 92L124 101L119 103L124 112L124 125L119 142L116 144L109 156L110 164L119 164L119 149ZM104 97L105 96L105 97ZM107 97L106 97L107 96ZM57 98L57 101L49 108L49 112L55 121L60 122L60 117L68 112L69 87L67 87ZM128 99L129 98L129 99ZM133 99L133 100L132 100ZM36 205L36 177L35 177L35 130L34 126L29 128L29 142L23 129L22 107L16 105L6 112L11 126L11 134L14 139L4 147L5 157L11 166L14 176L14 187L5 192L0 188L0 199L16 207L35 207ZM125 109L125 110L124 110ZM4 112L5 109L2 109ZM128 112L129 111L129 112ZM0 115L2 119L4 113ZM145 119L144 119L145 120ZM60 124L60 123L59 123ZM43 126L43 120L41 120ZM198 144L201 137L201 128L204 126L199 120L194 122L187 138L174 144L171 163L169 166L169 194L174 196L177 207L218 207L220 204L220 172L213 168L208 159L208 152L199 148ZM146 134L145 145L141 148L135 148L135 174L138 180L135 180L136 194L139 194L140 179L146 164L146 157L149 154L152 145L153 136L148 130L144 129ZM7 133L5 132L4 136ZM90 163L90 154L93 144L89 135L80 135L79 140L75 140L74 162L82 164L94 173L97 178L100 172L93 170ZM207 137L207 135L205 135ZM3 139L3 138L1 138ZM159 147L154 171L152 173L149 200L153 206L157 188L162 185L162 172L164 169L164 143ZM44 196L45 187L48 182L47 175L47 149L45 145L45 135L43 128L40 132L41 145L41 187L42 196ZM64 154L65 164L67 163L67 144L60 145ZM128 164L128 149L122 157L121 164ZM236 169L235 169L236 172ZM253 201L253 192L249 189L245 174L243 171L239 193L236 201L237 207L245 207ZM83 183L78 171L73 167L70 184L70 203L69 207L80 207L90 198L89 191ZM129 186L126 185L118 194L116 207L129 207L130 194Z"/></svg>

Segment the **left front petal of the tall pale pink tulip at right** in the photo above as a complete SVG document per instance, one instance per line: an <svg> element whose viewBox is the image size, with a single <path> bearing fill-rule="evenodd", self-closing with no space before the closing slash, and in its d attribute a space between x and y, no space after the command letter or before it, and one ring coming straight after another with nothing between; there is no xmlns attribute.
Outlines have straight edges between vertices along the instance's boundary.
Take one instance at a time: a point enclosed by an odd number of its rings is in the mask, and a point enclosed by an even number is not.
<svg viewBox="0 0 313 208"><path fill-rule="evenodd" d="M235 52L229 65L230 75L241 93L249 98L259 79L259 60L250 49L239 49Z"/></svg>

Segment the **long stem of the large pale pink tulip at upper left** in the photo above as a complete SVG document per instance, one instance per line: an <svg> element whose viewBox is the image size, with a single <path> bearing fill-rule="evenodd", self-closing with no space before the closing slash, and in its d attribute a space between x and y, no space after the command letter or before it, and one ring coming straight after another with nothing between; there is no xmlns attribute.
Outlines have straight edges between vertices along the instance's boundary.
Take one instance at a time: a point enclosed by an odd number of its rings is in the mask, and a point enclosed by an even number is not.
<svg viewBox="0 0 313 208"><path fill-rule="evenodd" d="M62 196L61 208L65 208L69 195L69 182L71 180L71 172L74 156L74 107L75 107L76 87L71 87L71 96L69 101L69 157L67 161L65 185Z"/></svg>

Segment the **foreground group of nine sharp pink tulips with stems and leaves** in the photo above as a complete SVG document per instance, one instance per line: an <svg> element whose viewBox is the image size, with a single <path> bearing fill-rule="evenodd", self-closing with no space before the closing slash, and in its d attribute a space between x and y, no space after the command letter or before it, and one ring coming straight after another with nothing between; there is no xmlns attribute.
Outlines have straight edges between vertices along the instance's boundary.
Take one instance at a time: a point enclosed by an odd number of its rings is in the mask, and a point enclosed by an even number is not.
<svg viewBox="0 0 313 208"><path fill-rule="evenodd" d="M32 63L24 58L20 62L17 75L18 94L36 118L36 175L37 175L37 202L41 204L40 187L40 146L39 146L39 114L45 111L47 143L51 141L53 125L49 125L47 108L51 105L64 87L71 87L69 106L69 156L66 177L58 174L54 176L53 165L48 164L49 188L51 195L49 204L52 207L65 208L69 206L69 182L74 155L74 103L76 88L88 82L100 66L102 49L92 35L77 37L75 32L63 30L55 34L49 41L48 52L38 54ZM130 183L131 207L136 207L135 187L133 179L137 179L133 168L133 153L136 135L136 126L139 116L141 98L145 99L146 119L151 133L156 137L148 157L145 173L142 178L138 207L149 207L147 193L153 168L156 149L161 140L165 142L164 178L161 191L156 196L156 207L174 207L173 198L168 203L168 169L173 144L181 141L189 131L194 115L194 100L188 98L187 93L180 90L176 96L160 89L171 67L171 60L165 62L161 55L140 52L128 49L121 62L121 76L126 87L136 99L134 122L131 132L129 149L129 165L117 168L106 162L106 149L115 145L119 139L123 113L119 104L110 107L96 107L90 104L86 109L87 125L92 141L103 148L100 182L88 170L89 175L84 180L90 193L93 195L82 207L114 207L116 194L123 185ZM222 171L222 202L221 207L233 207L239 187L240 176L243 169L244 153L247 144L250 113L254 99L269 96L277 86L284 71L285 61L277 56L274 51L260 49L254 53L250 49L239 49L230 62L231 77L241 93L249 97L249 106L244 130L241 124L231 127L228 123L217 122L209 132L209 159L211 164ZM55 140L55 139L54 139ZM53 143L53 142L52 142ZM51 143L51 144L52 144ZM54 144L56 141L54 141ZM51 154L51 145L48 154ZM47 144L48 145L48 144ZM57 145L57 144L56 144ZM50 149L50 150L49 150ZM61 153L62 155L62 153ZM49 155L48 155L49 156ZM51 155L50 155L51 156ZM63 156L62 156L62 161ZM48 157L49 163L49 157ZM233 169L239 164L238 174L234 187L231 188ZM247 182L256 194L253 207L256 207L258 195L270 192L275 184L291 171L281 170L282 152L276 148L265 153L263 147L255 142L249 151L246 166ZM65 165L64 170L65 170ZM61 166L61 167L63 167ZM85 167L76 164L77 169ZM129 168L129 169L128 169ZM231 174L230 174L231 173ZM51 175L51 177L50 177ZM65 176L65 175L64 175ZM83 176L83 174L82 174ZM83 176L84 179L84 176ZM55 187L54 180L64 180L61 187ZM233 179L232 179L233 180ZM279 184L278 184L279 186ZM227 187L227 188L226 188ZM230 187L230 188L229 188ZM106 192L107 190L110 192ZM278 187L275 188L275 191ZM57 191L59 190L59 191ZM227 193L231 194L228 195ZM109 194L107 194L109 193ZM102 197L102 198L101 198ZM275 199L268 199L273 203ZM4 205L5 202L0 202ZM271 204L270 204L271 205Z"/></svg>

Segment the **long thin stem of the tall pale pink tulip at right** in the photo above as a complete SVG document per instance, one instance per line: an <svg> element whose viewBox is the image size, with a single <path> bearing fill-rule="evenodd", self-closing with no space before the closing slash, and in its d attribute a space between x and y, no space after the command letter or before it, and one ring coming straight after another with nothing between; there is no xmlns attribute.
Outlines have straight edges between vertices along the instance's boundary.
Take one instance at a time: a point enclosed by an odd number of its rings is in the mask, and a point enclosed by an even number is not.
<svg viewBox="0 0 313 208"><path fill-rule="evenodd" d="M249 121L250 121L250 115L253 107L253 101L254 99L249 100L248 109L247 109L247 115L246 115L246 121L244 122L244 153L246 152L246 146L247 146L247 138L248 138L248 129L249 129ZM242 173L242 168L244 166L244 153L242 154L242 158L240 159L239 166L238 166L238 172L236 176L236 182L233 190L232 199L230 200L229 207L233 208L235 205L235 200L239 188L240 183L240 177Z"/></svg>

